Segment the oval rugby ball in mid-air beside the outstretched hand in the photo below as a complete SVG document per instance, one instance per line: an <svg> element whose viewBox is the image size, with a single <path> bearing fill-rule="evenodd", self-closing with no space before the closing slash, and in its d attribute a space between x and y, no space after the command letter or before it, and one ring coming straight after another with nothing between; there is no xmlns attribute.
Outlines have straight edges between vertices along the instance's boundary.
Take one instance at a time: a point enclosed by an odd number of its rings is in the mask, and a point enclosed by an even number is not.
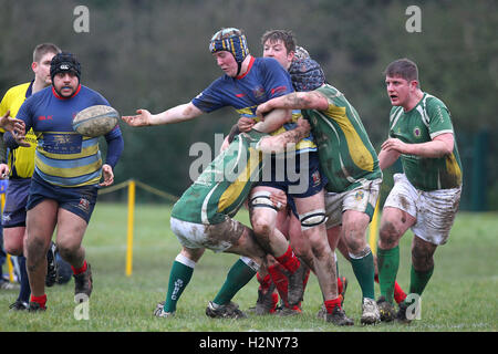
<svg viewBox="0 0 498 354"><path fill-rule="evenodd" d="M111 132L118 118L120 113L111 106L90 106L76 114L73 131L84 136L97 137Z"/></svg>

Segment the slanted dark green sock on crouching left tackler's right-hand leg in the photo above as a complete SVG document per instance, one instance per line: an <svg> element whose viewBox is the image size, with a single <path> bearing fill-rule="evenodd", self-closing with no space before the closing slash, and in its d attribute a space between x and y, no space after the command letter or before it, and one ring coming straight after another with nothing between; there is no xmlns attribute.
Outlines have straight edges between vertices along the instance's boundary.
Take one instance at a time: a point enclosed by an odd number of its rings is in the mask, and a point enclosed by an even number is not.
<svg viewBox="0 0 498 354"><path fill-rule="evenodd" d="M235 294L255 275L256 270L247 266L242 260L238 259L237 262L231 266L224 285L212 302L218 305L229 303Z"/></svg>

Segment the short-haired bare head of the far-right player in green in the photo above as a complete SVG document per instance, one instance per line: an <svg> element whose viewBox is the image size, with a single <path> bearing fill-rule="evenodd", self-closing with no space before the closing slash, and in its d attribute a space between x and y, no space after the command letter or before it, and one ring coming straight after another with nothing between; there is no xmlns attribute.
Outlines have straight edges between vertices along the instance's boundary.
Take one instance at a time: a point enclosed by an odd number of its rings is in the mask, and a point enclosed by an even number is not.
<svg viewBox="0 0 498 354"><path fill-rule="evenodd" d="M387 65L384 74L391 104L409 107L419 91L417 65L406 58L398 59Z"/></svg>

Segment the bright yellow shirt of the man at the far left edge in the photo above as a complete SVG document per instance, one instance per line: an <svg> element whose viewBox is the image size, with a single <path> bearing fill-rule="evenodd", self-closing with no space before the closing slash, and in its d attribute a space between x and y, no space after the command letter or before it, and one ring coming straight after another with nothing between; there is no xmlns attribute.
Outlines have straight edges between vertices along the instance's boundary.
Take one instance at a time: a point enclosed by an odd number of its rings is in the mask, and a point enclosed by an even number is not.
<svg viewBox="0 0 498 354"><path fill-rule="evenodd" d="M31 96L32 82L20 84L7 91L0 103L0 115L10 111L10 116L15 117L22 103ZM0 128L0 132L3 132ZM37 149L37 136L33 129L30 129L25 135L25 140L31 144L30 147L20 146L14 150L10 150L8 156L8 164L12 178L31 178L34 171L34 150Z"/></svg>

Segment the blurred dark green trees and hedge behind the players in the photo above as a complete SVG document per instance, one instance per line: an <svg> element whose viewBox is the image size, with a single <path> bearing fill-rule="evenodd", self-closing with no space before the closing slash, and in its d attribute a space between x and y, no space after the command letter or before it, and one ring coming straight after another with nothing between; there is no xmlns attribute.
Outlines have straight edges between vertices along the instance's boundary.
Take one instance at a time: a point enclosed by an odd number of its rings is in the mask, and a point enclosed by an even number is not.
<svg viewBox="0 0 498 354"><path fill-rule="evenodd" d="M79 4L90 10L89 33L73 29ZM421 33L405 30L405 10L412 4L422 9ZM465 168L464 208L471 178L477 178L471 173L476 135L489 134L481 156L487 186L483 205L498 209L497 7L494 0L0 0L0 92L30 80L34 45L54 42L77 54L82 82L121 114L139 107L157 113L189 102L221 74L208 52L211 34L221 27L243 29L256 56L262 53L266 30L289 29L360 112L378 149L391 107L383 71L407 56L419 66L423 90L452 111ZM214 146L215 133L227 134L236 121L227 108L179 125L121 124L126 146L116 183L136 178L180 195L191 183L191 144Z"/></svg>

